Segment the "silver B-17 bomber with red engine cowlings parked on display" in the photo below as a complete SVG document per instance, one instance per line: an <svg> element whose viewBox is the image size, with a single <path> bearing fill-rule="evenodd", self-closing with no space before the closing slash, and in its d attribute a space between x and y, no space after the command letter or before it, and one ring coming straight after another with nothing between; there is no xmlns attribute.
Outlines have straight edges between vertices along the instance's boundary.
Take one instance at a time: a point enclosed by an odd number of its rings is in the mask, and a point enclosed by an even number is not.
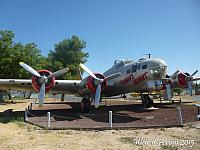
<svg viewBox="0 0 200 150"><path fill-rule="evenodd" d="M192 95L192 82L200 80L194 77L196 70L191 75L180 70L173 75L167 75L167 64L159 58L141 58L138 61L116 60L114 65L101 73L93 73L84 64L80 67L89 76L82 80L56 80L55 78L66 73L65 68L51 73L48 70L35 71L27 64L19 63L26 71L33 74L32 79L0 79L0 90L21 90L38 92L39 105L43 105L45 93L66 93L81 96L81 108L88 112L91 102L99 106L102 97L112 97L130 92L141 93L142 103L151 107L153 99L150 92L166 90L167 99L171 99L171 89L175 87L188 87ZM148 93L148 94L147 94Z"/></svg>

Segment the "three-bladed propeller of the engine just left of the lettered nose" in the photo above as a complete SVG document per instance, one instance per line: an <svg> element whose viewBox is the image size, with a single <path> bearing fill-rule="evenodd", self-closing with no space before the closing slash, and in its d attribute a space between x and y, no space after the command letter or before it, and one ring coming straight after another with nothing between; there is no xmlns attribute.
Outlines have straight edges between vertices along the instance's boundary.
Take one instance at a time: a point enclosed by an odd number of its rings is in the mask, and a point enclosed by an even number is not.
<svg viewBox="0 0 200 150"><path fill-rule="evenodd" d="M114 74L111 74L107 77L105 77L104 79L100 79L100 78L97 78L95 76L95 74L89 69L87 68L84 64L80 64L81 68L86 71L91 77L93 77L95 80L97 80L97 88L96 88L96 92L95 92L95 98L94 98L94 101L95 101L95 108L98 108L99 107L99 102L100 102L100 97L101 97L101 83L106 81L106 80L112 80L114 78L117 78L118 76L121 75L121 73L114 73Z"/></svg>

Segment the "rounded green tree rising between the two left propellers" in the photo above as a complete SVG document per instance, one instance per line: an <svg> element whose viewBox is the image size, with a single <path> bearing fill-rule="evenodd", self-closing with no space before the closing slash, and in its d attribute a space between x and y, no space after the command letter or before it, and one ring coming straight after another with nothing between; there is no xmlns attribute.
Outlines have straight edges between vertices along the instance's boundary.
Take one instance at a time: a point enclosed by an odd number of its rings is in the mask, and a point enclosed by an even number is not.
<svg viewBox="0 0 200 150"><path fill-rule="evenodd" d="M82 51L86 47L86 42L77 36L64 39L55 44L54 51L48 54L47 68L52 72L69 67L70 71L60 79L76 79L77 69L80 63L85 63L89 54Z"/></svg>

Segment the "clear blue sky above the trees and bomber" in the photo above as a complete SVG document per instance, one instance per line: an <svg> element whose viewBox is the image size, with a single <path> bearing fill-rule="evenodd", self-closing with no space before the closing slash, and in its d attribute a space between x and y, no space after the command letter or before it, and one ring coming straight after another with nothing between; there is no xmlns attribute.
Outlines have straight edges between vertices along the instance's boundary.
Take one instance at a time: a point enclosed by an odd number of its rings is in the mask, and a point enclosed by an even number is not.
<svg viewBox="0 0 200 150"><path fill-rule="evenodd" d="M199 0L0 0L0 10L0 30L35 42L44 56L79 36L94 72L148 53L164 59L169 74L200 69Z"/></svg>

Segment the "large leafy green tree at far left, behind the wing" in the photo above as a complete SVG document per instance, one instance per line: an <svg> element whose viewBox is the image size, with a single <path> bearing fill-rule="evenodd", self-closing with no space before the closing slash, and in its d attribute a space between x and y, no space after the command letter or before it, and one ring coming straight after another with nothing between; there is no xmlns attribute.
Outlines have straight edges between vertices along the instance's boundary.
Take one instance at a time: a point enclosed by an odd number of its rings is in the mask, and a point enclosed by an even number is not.
<svg viewBox="0 0 200 150"><path fill-rule="evenodd" d="M30 78L31 74L20 67L19 62L23 61L37 70L44 67L45 57L35 43L22 45L14 43L13 39L12 31L0 30L0 78Z"/></svg>

